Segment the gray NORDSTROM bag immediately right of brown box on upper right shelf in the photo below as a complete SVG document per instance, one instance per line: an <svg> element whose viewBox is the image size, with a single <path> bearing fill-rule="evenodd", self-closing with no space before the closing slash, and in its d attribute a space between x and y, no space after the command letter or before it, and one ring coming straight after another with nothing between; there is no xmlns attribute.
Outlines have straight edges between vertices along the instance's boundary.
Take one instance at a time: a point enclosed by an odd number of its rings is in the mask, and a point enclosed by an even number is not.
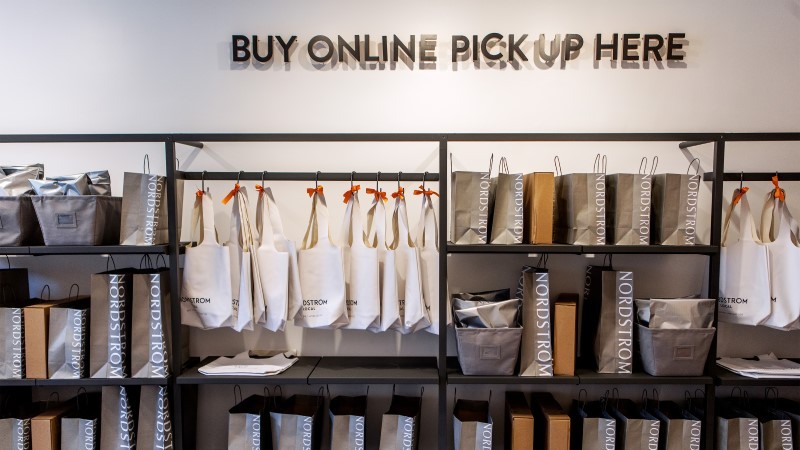
<svg viewBox="0 0 800 450"><path fill-rule="evenodd" d="M602 162L601 162L602 161ZM556 159L555 225L553 241L573 245L606 243L606 174L605 158L595 159L594 172L561 174Z"/></svg>

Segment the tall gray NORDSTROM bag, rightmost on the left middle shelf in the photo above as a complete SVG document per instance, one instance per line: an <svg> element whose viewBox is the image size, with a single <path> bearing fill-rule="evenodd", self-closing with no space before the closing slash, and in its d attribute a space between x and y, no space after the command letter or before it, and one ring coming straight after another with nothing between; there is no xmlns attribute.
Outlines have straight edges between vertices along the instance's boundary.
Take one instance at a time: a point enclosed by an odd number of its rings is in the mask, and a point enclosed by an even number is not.
<svg viewBox="0 0 800 450"><path fill-rule="evenodd" d="M169 269L134 273L131 377L167 378L169 370Z"/></svg>

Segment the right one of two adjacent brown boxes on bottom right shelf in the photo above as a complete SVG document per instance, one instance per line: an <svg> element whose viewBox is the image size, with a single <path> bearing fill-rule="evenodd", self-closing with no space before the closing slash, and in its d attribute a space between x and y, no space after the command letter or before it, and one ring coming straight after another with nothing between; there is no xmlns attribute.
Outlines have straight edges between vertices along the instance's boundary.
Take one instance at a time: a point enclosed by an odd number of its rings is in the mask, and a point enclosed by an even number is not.
<svg viewBox="0 0 800 450"><path fill-rule="evenodd" d="M561 409L553 394L531 394L536 450L569 450L569 415Z"/></svg>

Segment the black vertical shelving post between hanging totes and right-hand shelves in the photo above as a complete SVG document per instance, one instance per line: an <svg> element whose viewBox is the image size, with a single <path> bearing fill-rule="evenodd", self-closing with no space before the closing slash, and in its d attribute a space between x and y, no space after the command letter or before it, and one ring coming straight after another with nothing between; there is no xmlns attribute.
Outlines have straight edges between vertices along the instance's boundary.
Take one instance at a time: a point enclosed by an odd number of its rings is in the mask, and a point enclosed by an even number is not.
<svg viewBox="0 0 800 450"><path fill-rule="evenodd" d="M439 140L439 448L447 446L447 137Z"/></svg>

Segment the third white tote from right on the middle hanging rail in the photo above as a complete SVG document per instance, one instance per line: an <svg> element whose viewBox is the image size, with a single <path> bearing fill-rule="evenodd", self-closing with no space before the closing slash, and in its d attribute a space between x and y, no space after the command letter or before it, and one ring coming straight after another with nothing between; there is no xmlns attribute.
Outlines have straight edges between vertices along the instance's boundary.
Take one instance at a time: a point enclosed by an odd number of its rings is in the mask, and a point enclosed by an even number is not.
<svg viewBox="0 0 800 450"><path fill-rule="evenodd" d="M367 188L374 196L367 211L367 242L378 251L380 275L381 321L378 330L400 330L400 302L397 298L395 253L386 244L386 192Z"/></svg>

